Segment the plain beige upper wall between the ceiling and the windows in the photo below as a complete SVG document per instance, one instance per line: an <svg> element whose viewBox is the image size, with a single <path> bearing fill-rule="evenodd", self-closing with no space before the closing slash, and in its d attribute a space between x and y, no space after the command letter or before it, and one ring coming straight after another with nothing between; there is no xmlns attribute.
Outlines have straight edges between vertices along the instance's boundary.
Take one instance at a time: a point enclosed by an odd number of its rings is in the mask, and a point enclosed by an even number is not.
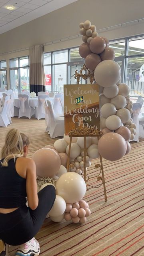
<svg viewBox="0 0 144 256"><path fill-rule="evenodd" d="M63 38L78 35L79 23L84 20L90 20L96 25L97 30L102 30L142 18L144 18L144 0L78 0L1 34L0 60L29 55L29 50L10 52L60 39L62 42L46 45L44 51L79 46L82 43L81 37L72 40L63 40ZM109 40L143 33L143 21L99 32Z"/></svg>

